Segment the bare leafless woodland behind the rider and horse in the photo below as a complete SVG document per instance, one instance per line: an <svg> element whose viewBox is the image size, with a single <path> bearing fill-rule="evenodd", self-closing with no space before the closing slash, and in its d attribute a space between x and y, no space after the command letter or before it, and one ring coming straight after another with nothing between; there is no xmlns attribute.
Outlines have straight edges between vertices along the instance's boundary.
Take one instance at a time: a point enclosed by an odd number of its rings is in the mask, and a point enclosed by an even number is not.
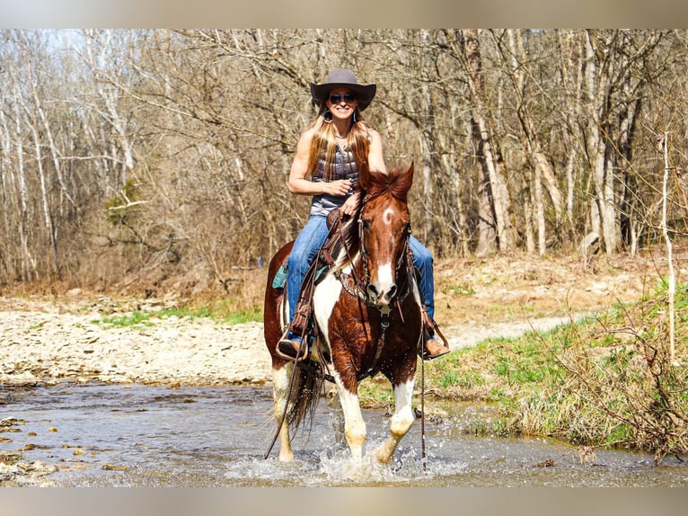
<svg viewBox="0 0 688 516"><path fill-rule="evenodd" d="M309 83L377 85L437 259L685 235L688 31L2 30L0 287L222 294L308 216ZM237 272L241 271L241 272Z"/></svg>

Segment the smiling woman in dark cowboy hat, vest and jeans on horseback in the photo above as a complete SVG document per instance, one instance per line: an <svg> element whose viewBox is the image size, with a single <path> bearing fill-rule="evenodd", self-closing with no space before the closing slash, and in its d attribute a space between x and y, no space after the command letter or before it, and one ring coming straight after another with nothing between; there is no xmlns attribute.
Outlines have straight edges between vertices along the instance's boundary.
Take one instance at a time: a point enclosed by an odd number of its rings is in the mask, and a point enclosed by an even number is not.
<svg viewBox="0 0 688 516"><path fill-rule="evenodd" d="M338 207L343 217L356 214L360 192L354 193L353 185L361 167L387 173L382 138L360 114L375 97L375 89L375 85L359 85L348 69L332 70L322 85L311 83L311 95L319 106L319 114L299 138L289 173L289 191L313 196L310 218L296 236L287 259L291 322L305 273L328 235L327 215ZM420 290L432 321L435 311L432 255L413 236L410 236L410 247L413 264L420 271ZM430 360L449 352L445 343L435 339L434 332L430 331L428 336L421 354L423 358ZM292 332L291 326L280 339L278 351L292 359L303 354L301 336Z"/></svg>

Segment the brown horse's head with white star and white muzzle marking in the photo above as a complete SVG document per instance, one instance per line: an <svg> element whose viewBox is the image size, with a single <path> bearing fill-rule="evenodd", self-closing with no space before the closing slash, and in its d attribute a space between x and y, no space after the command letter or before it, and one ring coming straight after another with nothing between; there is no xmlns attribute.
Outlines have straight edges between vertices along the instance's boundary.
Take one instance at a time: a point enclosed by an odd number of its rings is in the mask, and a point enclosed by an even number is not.
<svg viewBox="0 0 688 516"><path fill-rule="evenodd" d="M366 268L369 302L388 306L398 293L398 272L405 263L410 214L407 194L413 182L413 164L408 170L369 173L366 196L360 211L360 245Z"/></svg>

